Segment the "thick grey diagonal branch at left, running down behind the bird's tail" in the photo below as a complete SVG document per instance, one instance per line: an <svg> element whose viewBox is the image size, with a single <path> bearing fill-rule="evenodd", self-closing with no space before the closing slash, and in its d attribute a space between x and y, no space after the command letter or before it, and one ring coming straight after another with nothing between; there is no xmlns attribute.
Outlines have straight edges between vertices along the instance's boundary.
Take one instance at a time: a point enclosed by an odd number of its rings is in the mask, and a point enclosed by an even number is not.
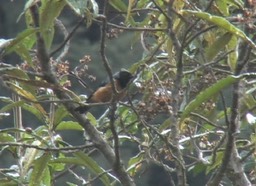
<svg viewBox="0 0 256 186"><path fill-rule="evenodd" d="M33 17L35 26L39 26L39 15L37 6L30 7L31 15ZM54 72L51 68L49 54L46 50L46 46L41 34L38 32L36 34L37 38L37 57L42 68L43 78L48 83L52 83L56 87L60 87L57 77L54 75ZM68 94L61 91L60 89L54 90L56 96L62 100L70 99ZM112 167L114 167L116 162L116 157L113 149L110 145L103 139L101 133L81 114L75 112L76 105L69 102L64 102L63 105L66 109L72 114L72 116L79 122L79 124L85 129L87 135L90 137L92 143L96 146L96 148L104 155L107 161L110 163ZM115 174L119 178L120 182L125 186L134 185L133 181L129 177L128 173L125 171L123 167L119 167L119 169L114 169Z"/></svg>

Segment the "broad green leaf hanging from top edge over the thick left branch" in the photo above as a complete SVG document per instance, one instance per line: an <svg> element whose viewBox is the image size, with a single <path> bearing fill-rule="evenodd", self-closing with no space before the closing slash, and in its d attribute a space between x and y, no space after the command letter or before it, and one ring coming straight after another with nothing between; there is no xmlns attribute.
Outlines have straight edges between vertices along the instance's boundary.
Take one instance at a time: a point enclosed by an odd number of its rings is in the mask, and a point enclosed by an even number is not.
<svg viewBox="0 0 256 186"><path fill-rule="evenodd" d="M54 36L54 21L60 15L60 12L66 5L65 0L42 0L40 7L40 31L43 35L45 45L49 49L52 45Z"/></svg>

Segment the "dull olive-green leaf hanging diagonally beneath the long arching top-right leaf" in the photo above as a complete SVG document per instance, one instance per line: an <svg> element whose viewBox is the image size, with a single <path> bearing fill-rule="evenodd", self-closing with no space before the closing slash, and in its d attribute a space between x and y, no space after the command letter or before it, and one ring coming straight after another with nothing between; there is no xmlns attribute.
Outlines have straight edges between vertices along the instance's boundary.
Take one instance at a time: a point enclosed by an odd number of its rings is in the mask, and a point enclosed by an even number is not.
<svg viewBox="0 0 256 186"><path fill-rule="evenodd" d="M211 61L220 51L225 49L225 46L230 42L233 34L227 32L220 36L211 46L206 48L207 60Z"/></svg>

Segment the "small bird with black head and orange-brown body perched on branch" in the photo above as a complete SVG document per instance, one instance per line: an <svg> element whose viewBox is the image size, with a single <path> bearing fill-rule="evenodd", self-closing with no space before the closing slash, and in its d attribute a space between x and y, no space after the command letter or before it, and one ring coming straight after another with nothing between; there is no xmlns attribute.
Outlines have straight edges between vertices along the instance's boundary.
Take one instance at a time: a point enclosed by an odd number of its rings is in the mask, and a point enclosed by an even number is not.
<svg viewBox="0 0 256 186"><path fill-rule="evenodd" d="M119 94L117 100L121 100L125 97L126 91L123 91L127 85L133 79L133 75L127 70L121 70L113 75L115 87ZM87 99L86 103L107 103L113 98L113 89L110 81L103 83L98 89L96 89ZM75 111L83 114L89 110L86 105L75 108Z"/></svg>

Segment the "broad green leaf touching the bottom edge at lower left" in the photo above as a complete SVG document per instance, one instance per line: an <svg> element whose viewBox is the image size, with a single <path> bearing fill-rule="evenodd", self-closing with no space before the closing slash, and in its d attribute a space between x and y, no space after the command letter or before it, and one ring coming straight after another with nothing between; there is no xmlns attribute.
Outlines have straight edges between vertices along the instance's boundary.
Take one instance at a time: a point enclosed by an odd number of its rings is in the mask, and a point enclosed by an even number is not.
<svg viewBox="0 0 256 186"><path fill-rule="evenodd" d="M50 185L46 184L49 181L50 172L48 169L48 161L50 160L50 154L45 153L43 156L41 156L39 159L34 161L34 168L31 174L31 178L29 180L29 186L34 185Z"/></svg>

